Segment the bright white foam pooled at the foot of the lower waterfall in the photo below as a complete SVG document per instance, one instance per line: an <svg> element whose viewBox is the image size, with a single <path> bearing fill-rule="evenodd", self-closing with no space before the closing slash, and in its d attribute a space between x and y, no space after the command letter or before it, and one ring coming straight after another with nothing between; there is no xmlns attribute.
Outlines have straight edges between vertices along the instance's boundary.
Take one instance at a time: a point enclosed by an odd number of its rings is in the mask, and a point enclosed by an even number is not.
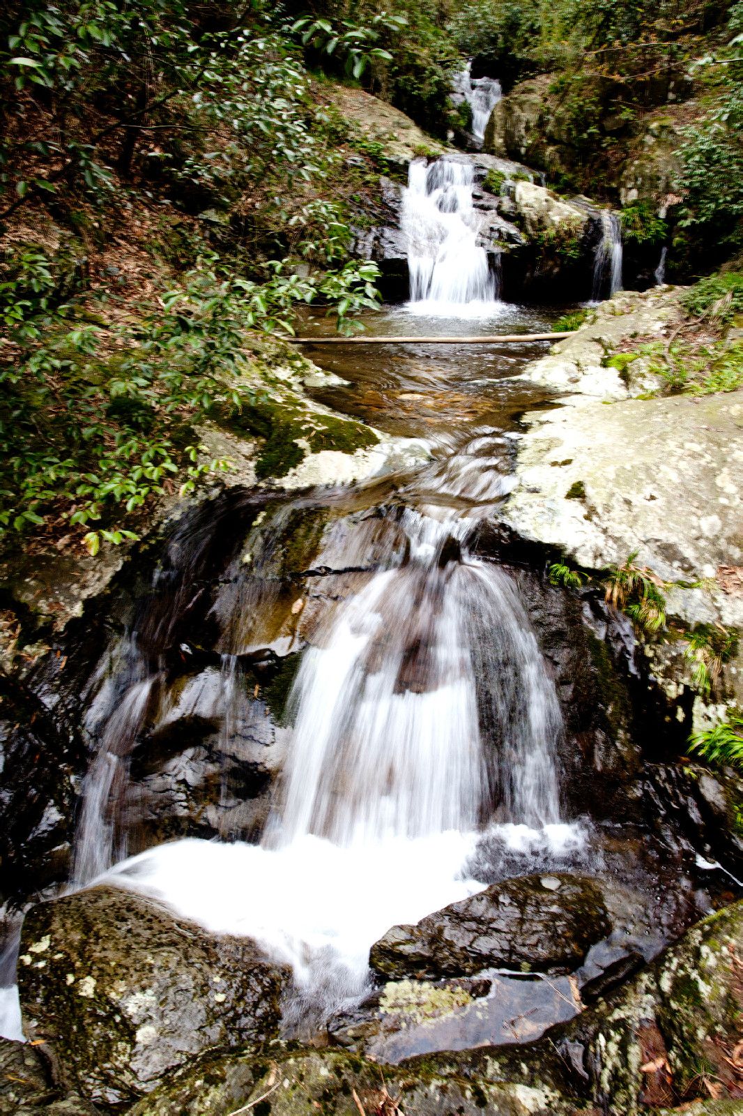
<svg viewBox="0 0 743 1116"><path fill-rule="evenodd" d="M462 867L477 835L389 837L346 847L312 835L270 849L186 839L117 865L105 877L166 903L214 933L248 935L300 985L322 958L363 988L369 947L397 923L418 922L484 885Z"/></svg>

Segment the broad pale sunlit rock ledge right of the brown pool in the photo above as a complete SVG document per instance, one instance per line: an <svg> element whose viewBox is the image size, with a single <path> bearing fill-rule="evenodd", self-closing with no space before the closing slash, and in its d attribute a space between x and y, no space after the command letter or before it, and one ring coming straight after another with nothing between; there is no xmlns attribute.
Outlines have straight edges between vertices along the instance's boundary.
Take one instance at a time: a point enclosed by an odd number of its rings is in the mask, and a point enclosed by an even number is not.
<svg viewBox="0 0 743 1116"><path fill-rule="evenodd" d="M666 581L711 579L704 588L670 588L668 617L736 631L743 594L726 574L743 565L743 389L662 394L652 359L631 352L643 340L670 339L682 294L616 295L527 368L524 378L553 388L560 406L525 416L503 520L588 570L635 554ZM678 699L689 685L688 662L673 642L649 641L645 652L668 696ZM740 651L718 689L721 715L743 702ZM697 725L705 716L697 699Z"/></svg>

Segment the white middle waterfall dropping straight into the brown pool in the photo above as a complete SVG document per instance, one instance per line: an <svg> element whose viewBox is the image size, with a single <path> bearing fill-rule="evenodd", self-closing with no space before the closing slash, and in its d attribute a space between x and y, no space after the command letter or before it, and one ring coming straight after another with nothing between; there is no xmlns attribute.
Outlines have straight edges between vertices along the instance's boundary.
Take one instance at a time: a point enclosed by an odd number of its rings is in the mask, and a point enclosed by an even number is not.
<svg viewBox="0 0 743 1116"><path fill-rule="evenodd" d="M461 312L465 304L498 298L488 252L477 244L472 203L474 167L446 156L428 165L414 160L403 196L401 228L407 241L411 302ZM453 308L456 307L456 309Z"/></svg>

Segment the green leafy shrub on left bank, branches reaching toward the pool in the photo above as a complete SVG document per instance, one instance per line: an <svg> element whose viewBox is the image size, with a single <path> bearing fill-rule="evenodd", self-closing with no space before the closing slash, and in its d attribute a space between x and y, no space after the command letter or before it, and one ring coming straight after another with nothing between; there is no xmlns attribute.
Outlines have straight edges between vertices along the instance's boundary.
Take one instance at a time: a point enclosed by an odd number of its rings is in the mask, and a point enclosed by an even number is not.
<svg viewBox="0 0 743 1116"><path fill-rule="evenodd" d="M54 260L21 252L0 286L11 346L0 365L1 528L42 528L48 517L88 528L135 511L171 479L193 491L226 463L203 461L192 423L220 402L254 404L249 331L291 333L293 308L316 299L349 329L376 305L376 276L373 263L346 263L301 279L274 261L257 282L212 253L134 323L104 330L80 324L79 297L54 305ZM132 537L108 522L85 541L95 552L102 538Z"/></svg>

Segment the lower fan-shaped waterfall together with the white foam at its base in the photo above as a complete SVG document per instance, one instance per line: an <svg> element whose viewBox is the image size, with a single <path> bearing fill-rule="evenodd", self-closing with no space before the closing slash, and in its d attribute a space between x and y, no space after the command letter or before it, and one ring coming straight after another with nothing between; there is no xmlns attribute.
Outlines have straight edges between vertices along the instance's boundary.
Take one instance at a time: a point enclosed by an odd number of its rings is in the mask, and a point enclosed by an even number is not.
<svg viewBox="0 0 743 1116"><path fill-rule="evenodd" d="M515 586L460 558L470 520L407 509L401 526L407 560L339 604L305 655L263 845L180 840L110 874L255 937L326 1010L364 991L390 925L482 886L465 865L489 822L525 855L579 840L560 821L560 708Z"/></svg>

